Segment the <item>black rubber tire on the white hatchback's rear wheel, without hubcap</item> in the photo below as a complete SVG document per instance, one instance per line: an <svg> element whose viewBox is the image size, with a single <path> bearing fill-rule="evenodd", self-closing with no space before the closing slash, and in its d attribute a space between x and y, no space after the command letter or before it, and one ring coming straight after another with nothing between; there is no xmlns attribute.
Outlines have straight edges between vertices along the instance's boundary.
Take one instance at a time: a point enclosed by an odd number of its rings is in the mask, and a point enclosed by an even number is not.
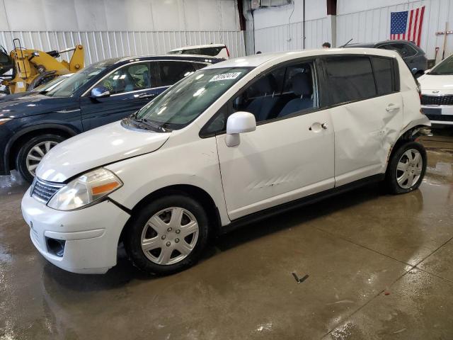
<svg viewBox="0 0 453 340"><path fill-rule="evenodd" d="M400 161L401 157L403 157L403 154L410 150L410 149L415 149L418 152L420 152L420 155L422 157L423 164L421 164L421 172L420 172L420 177L418 180L413 183L413 185L409 186L408 188L403 188L398 184L397 181L397 166L398 162ZM387 166L387 171L386 171L386 178L385 178L385 184L386 188L390 193L393 194L399 194L399 193L409 193L411 191L414 191L417 189L420 184L423 181L423 177L425 176L426 172L426 164L428 161L428 157L426 156L426 150L423 145L421 145L418 142L407 142L406 144L401 145L396 149L396 151L391 155L391 159L389 162L389 165ZM406 183L406 185L408 182Z"/></svg>

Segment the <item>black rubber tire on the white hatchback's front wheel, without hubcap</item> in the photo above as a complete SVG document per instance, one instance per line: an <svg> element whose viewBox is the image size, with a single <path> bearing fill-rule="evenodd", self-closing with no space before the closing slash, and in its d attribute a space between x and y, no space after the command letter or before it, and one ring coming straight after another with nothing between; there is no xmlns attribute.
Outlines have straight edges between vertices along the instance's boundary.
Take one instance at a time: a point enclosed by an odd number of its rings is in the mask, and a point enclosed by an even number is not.
<svg viewBox="0 0 453 340"><path fill-rule="evenodd" d="M190 253L185 258L181 259L177 263L158 264L154 261L151 261L151 259L149 259L147 255L145 255L145 252L142 249L142 233L144 232L145 227L148 225L149 219L153 217L154 214L171 207L183 208L190 212L193 217L195 217L198 225L197 240L192 251L190 251ZM130 261L132 261L134 266L137 266L137 268L139 268L141 271L144 271L145 273L168 275L176 273L178 271L183 271L190 266L193 266L193 264L197 263L197 261L202 256L202 251L205 249L207 240L209 239L209 222L205 209L202 208L202 205L200 205L197 200L194 200L193 198L182 194L173 194L170 196L164 196L162 198L156 198L156 200L153 200L140 208L140 210L137 211L136 214L132 215L131 218L132 220L130 220L127 225L127 229L125 230L125 250L127 252L127 256L129 257ZM154 231L151 230L151 232ZM171 232L167 234L168 238L164 242L173 242L173 244L171 244L169 248L172 249L171 247L177 245L174 243L175 239L171 239L171 235L169 235L170 233ZM173 237L175 236L176 235L173 234ZM152 235L151 237L159 239L159 234L156 233L156 235ZM161 246L162 248L160 251L165 248L166 244L162 243ZM160 254L156 254L156 256L159 255ZM148 256L150 255L148 254Z"/></svg>

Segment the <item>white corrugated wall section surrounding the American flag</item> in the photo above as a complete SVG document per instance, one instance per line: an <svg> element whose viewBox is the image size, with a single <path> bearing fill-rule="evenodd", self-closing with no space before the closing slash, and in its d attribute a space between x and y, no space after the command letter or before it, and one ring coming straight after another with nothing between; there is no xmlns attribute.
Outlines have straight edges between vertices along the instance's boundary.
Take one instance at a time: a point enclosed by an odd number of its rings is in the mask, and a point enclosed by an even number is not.
<svg viewBox="0 0 453 340"><path fill-rule="evenodd" d="M343 0L345 1L345 0ZM435 47L440 47L442 55L443 35L435 35L437 31L445 30L445 22L449 21L449 30L453 30L453 4L451 0L401 1L401 4L358 11L341 13L341 3L338 1L337 16L337 45L353 38L352 42L377 42L390 37L390 13L407 11L408 9L426 6L420 47L425 50L429 59L435 57ZM350 1L350 0L348 0ZM357 0L362 1L362 0ZM446 55L453 53L453 35L447 35Z"/></svg>

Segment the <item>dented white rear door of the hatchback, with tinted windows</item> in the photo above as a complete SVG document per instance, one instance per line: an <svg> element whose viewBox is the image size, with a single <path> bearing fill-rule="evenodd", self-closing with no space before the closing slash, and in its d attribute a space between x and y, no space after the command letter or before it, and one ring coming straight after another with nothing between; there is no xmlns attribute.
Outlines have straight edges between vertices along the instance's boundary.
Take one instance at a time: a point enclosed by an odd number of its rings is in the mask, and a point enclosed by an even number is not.
<svg viewBox="0 0 453 340"><path fill-rule="evenodd" d="M403 123L396 60L338 55L323 59L335 130L336 186L383 174Z"/></svg>

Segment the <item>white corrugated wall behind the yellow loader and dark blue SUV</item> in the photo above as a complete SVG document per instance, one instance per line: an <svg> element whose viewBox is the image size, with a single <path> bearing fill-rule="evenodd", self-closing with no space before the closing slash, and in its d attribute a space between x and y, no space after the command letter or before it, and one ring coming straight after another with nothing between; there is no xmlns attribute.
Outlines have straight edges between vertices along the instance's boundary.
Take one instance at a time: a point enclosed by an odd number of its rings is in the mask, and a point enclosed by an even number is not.
<svg viewBox="0 0 453 340"><path fill-rule="evenodd" d="M81 43L85 47L85 64L110 57L154 55L186 45L224 43L231 57L246 54L243 32L237 31L85 31L85 32L1 32L0 45L9 52L13 38L21 39L23 47L50 51L64 50ZM64 59L67 59L64 56Z"/></svg>

